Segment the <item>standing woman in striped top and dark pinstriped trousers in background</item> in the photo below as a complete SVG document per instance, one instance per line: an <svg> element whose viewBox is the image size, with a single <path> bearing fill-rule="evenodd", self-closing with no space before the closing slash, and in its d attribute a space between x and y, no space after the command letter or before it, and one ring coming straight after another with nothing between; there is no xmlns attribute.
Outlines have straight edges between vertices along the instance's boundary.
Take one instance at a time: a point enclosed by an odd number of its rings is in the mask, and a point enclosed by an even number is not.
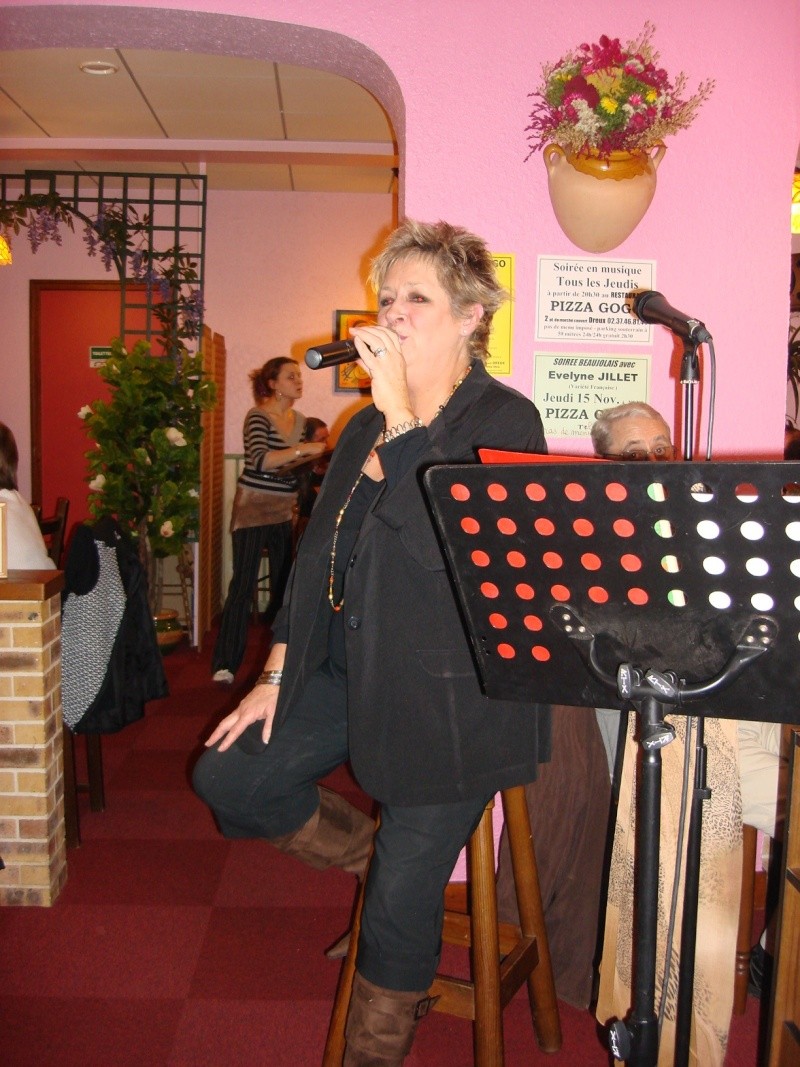
<svg viewBox="0 0 800 1067"><path fill-rule="evenodd" d="M306 442L300 367L288 356L268 360L250 376L255 405L244 419L244 466L230 515L234 574L211 659L214 682L230 684L244 655L247 618L261 554L270 558L270 615L281 606L291 568L292 513L298 478L292 466L324 450Z"/></svg>

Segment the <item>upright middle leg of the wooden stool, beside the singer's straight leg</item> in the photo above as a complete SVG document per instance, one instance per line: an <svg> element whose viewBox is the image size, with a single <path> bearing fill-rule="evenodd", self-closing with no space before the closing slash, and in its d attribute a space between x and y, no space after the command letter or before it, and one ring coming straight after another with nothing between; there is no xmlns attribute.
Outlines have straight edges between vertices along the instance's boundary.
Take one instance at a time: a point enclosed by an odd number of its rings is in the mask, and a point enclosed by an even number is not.
<svg viewBox="0 0 800 1067"><path fill-rule="evenodd" d="M486 806L478 829L469 839L475 1067L502 1067L505 1058L497 890L494 877L493 808L494 800Z"/></svg>

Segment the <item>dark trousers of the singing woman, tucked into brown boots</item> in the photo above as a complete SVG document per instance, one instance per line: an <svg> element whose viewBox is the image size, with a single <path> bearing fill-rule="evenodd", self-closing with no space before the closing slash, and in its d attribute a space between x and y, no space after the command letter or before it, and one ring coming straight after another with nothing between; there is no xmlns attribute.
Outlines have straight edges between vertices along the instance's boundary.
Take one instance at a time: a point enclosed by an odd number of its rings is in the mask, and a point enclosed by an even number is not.
<svg viewBox="0 0 800 1067"><path fill-rule="evenodd" d="M347 760L347 682L323 665L268 745L256 722L226 752L207 750L194 789L226 837L291 833L317 810L317 781ZM356 964L367 981L428 989L441 953L445 886L492 795L382 807Z"/></svg>

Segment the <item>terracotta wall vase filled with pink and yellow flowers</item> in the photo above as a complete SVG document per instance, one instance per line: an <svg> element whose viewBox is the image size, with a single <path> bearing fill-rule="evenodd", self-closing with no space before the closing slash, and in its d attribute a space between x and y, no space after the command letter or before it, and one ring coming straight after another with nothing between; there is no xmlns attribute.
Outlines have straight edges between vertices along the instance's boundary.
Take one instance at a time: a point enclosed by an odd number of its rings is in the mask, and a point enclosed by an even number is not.
<svg viewBox="0 0 800 1067"><path fill-rule="evenodd" d="M621 244L655 194L663 139L686 129L714 89L684 97L687 76L673 81L658 66L655 27L646 22L623 48L601 36L545 64L530 95L530 152L542 152L550 201L566 236L589 252Z"/></svg>

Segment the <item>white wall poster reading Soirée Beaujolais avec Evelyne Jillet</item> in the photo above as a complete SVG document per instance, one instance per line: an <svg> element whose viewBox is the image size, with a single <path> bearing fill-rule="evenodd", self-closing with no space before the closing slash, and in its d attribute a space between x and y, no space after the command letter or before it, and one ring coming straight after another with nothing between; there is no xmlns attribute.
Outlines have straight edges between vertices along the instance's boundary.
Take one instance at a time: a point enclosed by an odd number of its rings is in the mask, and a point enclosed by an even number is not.
<svg viewBox="0 0 800 1067"><path fill-rule="evenodd" d="M537 352L533 402L546 437L588 437L597 412L645 401L646 356Z"/></svg>

